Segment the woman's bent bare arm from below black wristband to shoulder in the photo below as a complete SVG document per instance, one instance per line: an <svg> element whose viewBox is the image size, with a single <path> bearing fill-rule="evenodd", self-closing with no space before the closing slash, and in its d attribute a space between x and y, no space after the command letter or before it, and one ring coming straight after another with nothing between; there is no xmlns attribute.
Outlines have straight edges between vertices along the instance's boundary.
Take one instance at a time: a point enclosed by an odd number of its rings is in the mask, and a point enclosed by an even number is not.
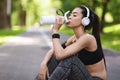
<svg viewBox="0 0 120 80"><path fill-rule="evenodd" d="M76 42L63 49L60 45L60 40L58 38L53 39L53 47L55 50L54 54L56 56L56 59L61 60L76 54L83 48L86 48L90 41L91 40L87 36L82 36Z"/></svg>

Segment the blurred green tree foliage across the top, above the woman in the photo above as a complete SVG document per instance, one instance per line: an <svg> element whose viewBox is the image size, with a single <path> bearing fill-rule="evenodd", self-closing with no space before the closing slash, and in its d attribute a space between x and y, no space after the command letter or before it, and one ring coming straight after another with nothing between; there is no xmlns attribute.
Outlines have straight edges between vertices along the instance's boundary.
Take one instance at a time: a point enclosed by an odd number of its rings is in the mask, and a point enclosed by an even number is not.
<svg viewBox="0 0 120 80"><path fill-rule="evenodd" d="M26 11L26 24L30 26L35 22L39 22L40 16L42 15L55 15L55 11L58 8L62 8L64 11L71 11L80 5L86 5L92 8L101 19L103 1L104 0L12 0L12 24L19 24L18 13L20 5L22 5L22 9ZM106 21L120 22L120 0L108 1ZM111 19L108 14L111 16Z"/></svg>

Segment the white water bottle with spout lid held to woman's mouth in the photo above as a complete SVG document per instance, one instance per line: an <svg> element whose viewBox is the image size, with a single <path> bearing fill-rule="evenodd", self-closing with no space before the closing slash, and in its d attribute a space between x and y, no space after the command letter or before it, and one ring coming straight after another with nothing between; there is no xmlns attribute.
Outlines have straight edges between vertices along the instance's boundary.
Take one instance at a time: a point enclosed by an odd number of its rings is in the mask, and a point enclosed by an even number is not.
<svg viewBox="0 0 120 80"><path fill-rule="evenodd" d="M66 23L68 21L67 19L67 14L69 13L70 11L67 11L65 12L64 14L64 22ZM40 17L40 23L41 24L54 24L56 21L56 16L41 16Z"/></svg>

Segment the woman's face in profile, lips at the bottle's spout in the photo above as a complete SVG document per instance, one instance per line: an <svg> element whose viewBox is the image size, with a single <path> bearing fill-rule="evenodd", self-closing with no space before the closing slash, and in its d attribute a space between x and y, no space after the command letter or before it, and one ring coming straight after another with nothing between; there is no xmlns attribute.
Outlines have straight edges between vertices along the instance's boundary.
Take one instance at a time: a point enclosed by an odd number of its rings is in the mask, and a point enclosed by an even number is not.
<svg viewBox="0 0 120 80"><path fill-rule="evenodd" d="M68 23L67 23L68 27L73 28L73 27L81 26L82 16L83 16L82 9L75 8L68 18Z"/></svg>

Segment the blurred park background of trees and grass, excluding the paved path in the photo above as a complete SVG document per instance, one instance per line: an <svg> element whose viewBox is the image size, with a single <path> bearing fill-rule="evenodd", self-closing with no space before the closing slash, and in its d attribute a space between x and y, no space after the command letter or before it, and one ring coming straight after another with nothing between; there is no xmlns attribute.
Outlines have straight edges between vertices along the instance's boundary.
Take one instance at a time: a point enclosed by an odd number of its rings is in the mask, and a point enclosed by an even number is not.
<svg viewBox="0 0 120 80"><path fill-rule="evenodd" d="M79 5L90 7L99 16L103 47L120 52L120 0L0 0L0 45L40 23L40 16ZM65 28L61 32L72 35Z"/></svg>

